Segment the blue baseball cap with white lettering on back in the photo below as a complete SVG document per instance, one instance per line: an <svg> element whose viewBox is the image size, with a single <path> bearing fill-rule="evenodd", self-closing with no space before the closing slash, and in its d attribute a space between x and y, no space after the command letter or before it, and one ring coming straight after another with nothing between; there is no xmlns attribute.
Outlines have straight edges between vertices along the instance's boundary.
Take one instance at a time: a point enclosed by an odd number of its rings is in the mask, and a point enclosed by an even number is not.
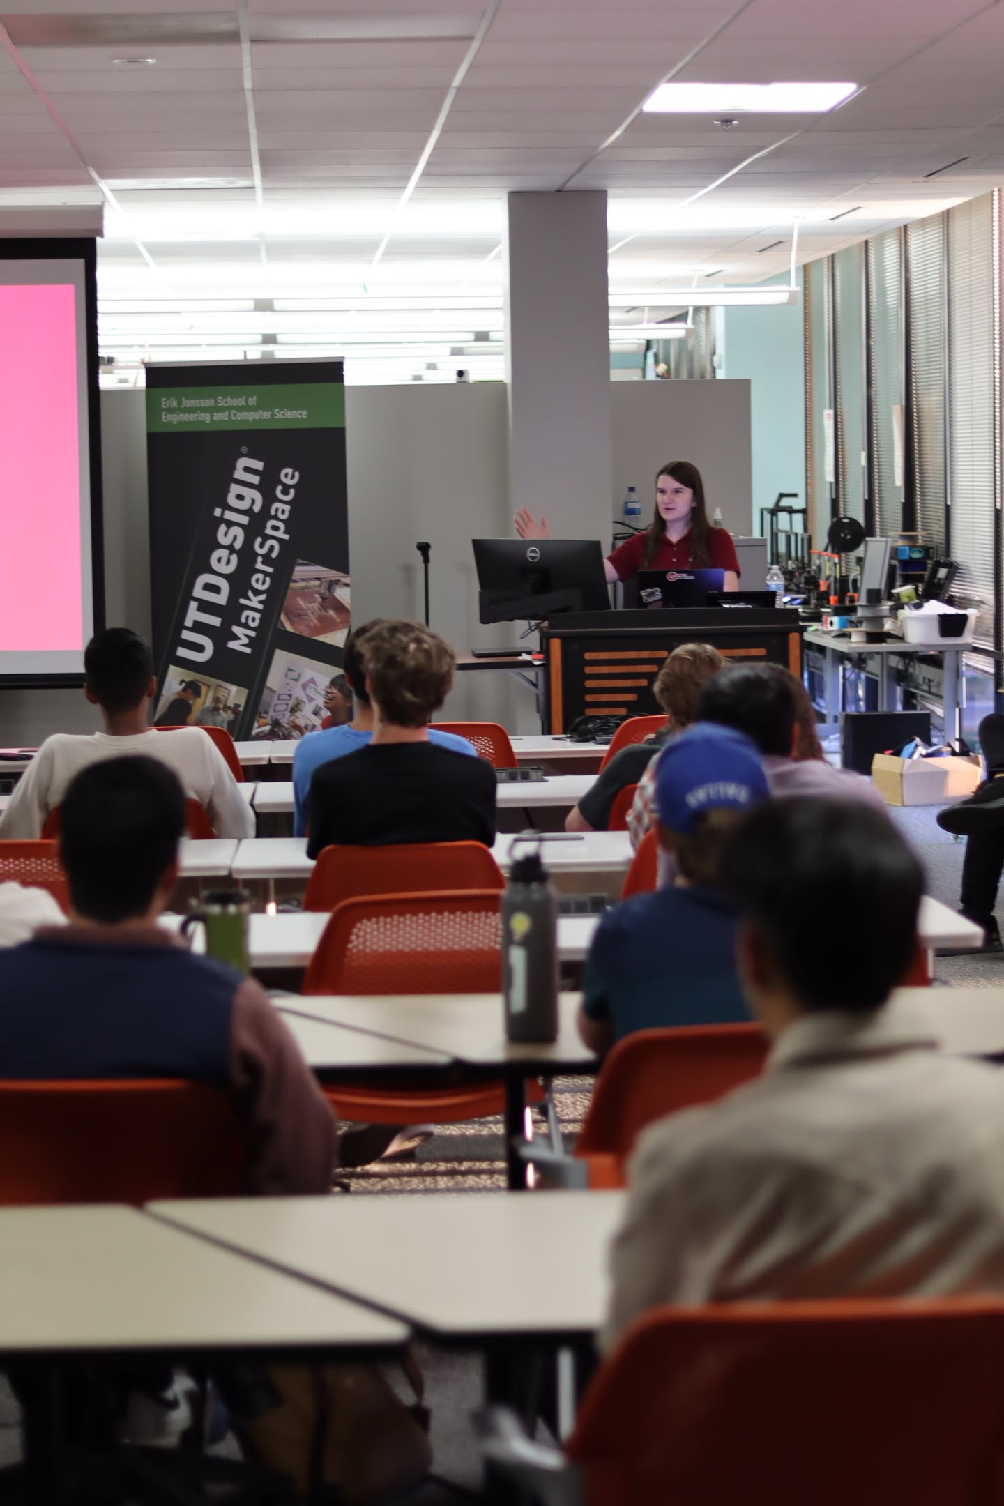
<svg viewBox="0 0 1004 1506"><path fill-rule="evenodd" d="M766 800L756 745L744 732L698 721L665 744L655 767L659 821L691 836L706 810L747 810Z"/></svg>

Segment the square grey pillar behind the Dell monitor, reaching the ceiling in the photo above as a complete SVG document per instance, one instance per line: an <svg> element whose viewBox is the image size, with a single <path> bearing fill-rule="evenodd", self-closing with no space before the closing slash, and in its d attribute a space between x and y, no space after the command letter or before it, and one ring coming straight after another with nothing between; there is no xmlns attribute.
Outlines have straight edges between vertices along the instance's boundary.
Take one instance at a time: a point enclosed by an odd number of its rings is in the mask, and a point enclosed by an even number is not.
<svg viewBox="0 0 1004 1506"><path fill-rule="evenodd" d="M510 193L506 355L512 511L551 538L611 535L607 194Z"/></svg>

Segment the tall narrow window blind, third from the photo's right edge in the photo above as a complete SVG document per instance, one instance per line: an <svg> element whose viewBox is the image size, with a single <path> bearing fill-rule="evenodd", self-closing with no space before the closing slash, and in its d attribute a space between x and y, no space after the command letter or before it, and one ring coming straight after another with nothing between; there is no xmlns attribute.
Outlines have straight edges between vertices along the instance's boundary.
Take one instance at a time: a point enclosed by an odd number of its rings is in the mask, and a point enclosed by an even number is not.
<svg viewBox="0 0 1004 1506"><path fill-rule="evenodd" d="M894 536L903 527L899 443L903 417L903 232L867 242L869 345L872 352L872 494L876 527Z"/></svg>

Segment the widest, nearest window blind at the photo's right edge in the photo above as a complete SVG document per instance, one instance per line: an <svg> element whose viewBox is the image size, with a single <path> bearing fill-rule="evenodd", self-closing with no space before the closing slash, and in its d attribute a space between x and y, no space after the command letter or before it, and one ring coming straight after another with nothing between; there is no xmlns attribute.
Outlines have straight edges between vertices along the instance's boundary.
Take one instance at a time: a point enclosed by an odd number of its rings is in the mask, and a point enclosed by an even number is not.
<svg viewBox="0 0 1004 1506"><path fill-rule="evenodd" d="M954 592L981 607L977 642L993 648L993 238L992 196L948 211L948 500Z"/></svg>

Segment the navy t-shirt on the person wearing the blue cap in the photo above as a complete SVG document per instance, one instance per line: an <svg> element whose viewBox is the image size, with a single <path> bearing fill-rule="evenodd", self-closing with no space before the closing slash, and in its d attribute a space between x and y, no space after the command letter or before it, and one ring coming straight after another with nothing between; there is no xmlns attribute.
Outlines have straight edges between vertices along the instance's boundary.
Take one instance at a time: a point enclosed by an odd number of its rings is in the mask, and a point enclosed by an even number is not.
<svg viewBox="0 0 1004 1506"><path fill-rule="evenodd" d="M656 889L608 910L586 958L583 1011L614 1036L748 1021L736 919L707 889Z"/></svg>

